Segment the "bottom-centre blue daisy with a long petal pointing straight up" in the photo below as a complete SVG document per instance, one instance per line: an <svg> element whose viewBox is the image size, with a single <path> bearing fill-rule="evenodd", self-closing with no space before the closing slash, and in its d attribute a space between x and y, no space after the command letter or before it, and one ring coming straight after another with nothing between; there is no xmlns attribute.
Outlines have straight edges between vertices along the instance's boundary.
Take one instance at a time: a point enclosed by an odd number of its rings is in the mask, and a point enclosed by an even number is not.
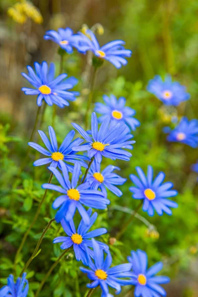
<svg viewBox="0 0 198 297"><path fill-rule="evenodd" d="M80 270L87 273L88 278L93 281L91 284L87 284L87 287L96 288L100 286L102 290L101 297L110 296L108 295L108 286L116 289L116 294L119 294L121 292L121 286L131 284L130 280L123 280L122 278L131 277L132 273L130 270L132 265L127 263L109 268L112 263L110 252L107 253L104 259L103 249L99 247L99 244L94 239L92 239L92 242L94 247L94 262L89 253L87 253L88 266L91 269L80 267Z"/></svg>

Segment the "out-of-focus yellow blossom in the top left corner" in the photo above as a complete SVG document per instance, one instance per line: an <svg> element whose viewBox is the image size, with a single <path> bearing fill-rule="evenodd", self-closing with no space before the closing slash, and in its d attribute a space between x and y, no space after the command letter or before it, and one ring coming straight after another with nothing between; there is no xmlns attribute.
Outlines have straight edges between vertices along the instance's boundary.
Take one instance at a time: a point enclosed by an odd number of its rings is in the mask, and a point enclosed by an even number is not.
<svg viewBox="0 0 198 297"><path fill-rule="evenodd" d="M7 14L17 23L23 24L28 18L31 18L35 23L41 24L43 17L40 11L31 3L26 0L20 0L20 2L9 7Z"/></svg>

